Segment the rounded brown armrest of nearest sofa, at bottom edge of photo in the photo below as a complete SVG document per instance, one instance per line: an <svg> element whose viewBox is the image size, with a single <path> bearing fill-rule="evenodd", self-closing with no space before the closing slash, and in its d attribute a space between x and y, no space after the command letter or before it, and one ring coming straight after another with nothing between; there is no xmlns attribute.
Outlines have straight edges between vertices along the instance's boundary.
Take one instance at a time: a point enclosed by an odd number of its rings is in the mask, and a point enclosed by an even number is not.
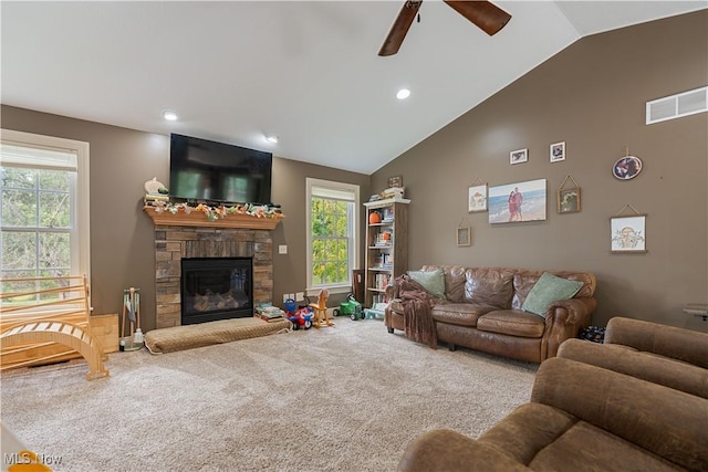
<svg viewBox="0 0 708 472"><path fill-rule="evenodd" d="M416 438L398 463L400 472L530 471L503 452L448 429Z"/></svg>

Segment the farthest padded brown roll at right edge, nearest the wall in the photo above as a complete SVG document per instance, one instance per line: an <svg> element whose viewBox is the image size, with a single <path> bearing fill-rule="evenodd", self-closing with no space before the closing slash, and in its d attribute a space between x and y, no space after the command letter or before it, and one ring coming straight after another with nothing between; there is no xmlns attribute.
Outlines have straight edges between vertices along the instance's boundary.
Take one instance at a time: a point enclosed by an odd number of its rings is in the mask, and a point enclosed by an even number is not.
<svg viewBox="0 0 708 472"><path fill-rule="evenodd" d="M621 344L708 368L706 333L615 316L607 323L604 343Z"/></svg>

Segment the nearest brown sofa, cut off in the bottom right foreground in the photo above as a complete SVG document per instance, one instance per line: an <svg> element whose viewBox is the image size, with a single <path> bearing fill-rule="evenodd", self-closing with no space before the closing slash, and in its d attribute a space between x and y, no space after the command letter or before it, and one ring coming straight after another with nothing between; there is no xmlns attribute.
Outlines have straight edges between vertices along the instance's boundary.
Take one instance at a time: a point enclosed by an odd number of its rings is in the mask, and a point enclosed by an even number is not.
<svg viewBox="0 0 708 472"><path fill-rule="evenodd" d="M421 434L398 470L707 471L706 424L705 398L555 357L539 367L529 403L477 440Z"/></svg>

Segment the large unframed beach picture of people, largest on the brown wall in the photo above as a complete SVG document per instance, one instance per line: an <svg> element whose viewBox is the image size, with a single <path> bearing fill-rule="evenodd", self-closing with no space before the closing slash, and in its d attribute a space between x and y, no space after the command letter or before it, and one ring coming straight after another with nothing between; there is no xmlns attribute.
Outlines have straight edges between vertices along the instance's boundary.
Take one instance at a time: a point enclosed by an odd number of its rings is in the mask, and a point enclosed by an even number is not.
<svg viewBox="0 0 708 472"><path fill-rule="evenodd" d="M545 220L545 179L489 187L489 222Z"/></svg>

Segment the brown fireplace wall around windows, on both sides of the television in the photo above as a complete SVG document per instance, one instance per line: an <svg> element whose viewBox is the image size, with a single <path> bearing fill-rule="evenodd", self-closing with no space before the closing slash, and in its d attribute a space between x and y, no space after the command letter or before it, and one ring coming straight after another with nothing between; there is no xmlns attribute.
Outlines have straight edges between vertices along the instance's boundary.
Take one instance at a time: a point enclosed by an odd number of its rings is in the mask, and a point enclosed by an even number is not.
<svg viewBox="0 0 708 472"><path fill-rule="evenodd" d="M91 289L94 314L121 313L123 289L140 289L143 331L155 327L154 227L143 212L144 182L169 182L169 137L2 106L2 127L90 143ZM272 199L285 219L273 231L273 301L305 289L305 177L357 183L369 176L273 159ZM278 254L287 244L289 253Z"/></svg>

